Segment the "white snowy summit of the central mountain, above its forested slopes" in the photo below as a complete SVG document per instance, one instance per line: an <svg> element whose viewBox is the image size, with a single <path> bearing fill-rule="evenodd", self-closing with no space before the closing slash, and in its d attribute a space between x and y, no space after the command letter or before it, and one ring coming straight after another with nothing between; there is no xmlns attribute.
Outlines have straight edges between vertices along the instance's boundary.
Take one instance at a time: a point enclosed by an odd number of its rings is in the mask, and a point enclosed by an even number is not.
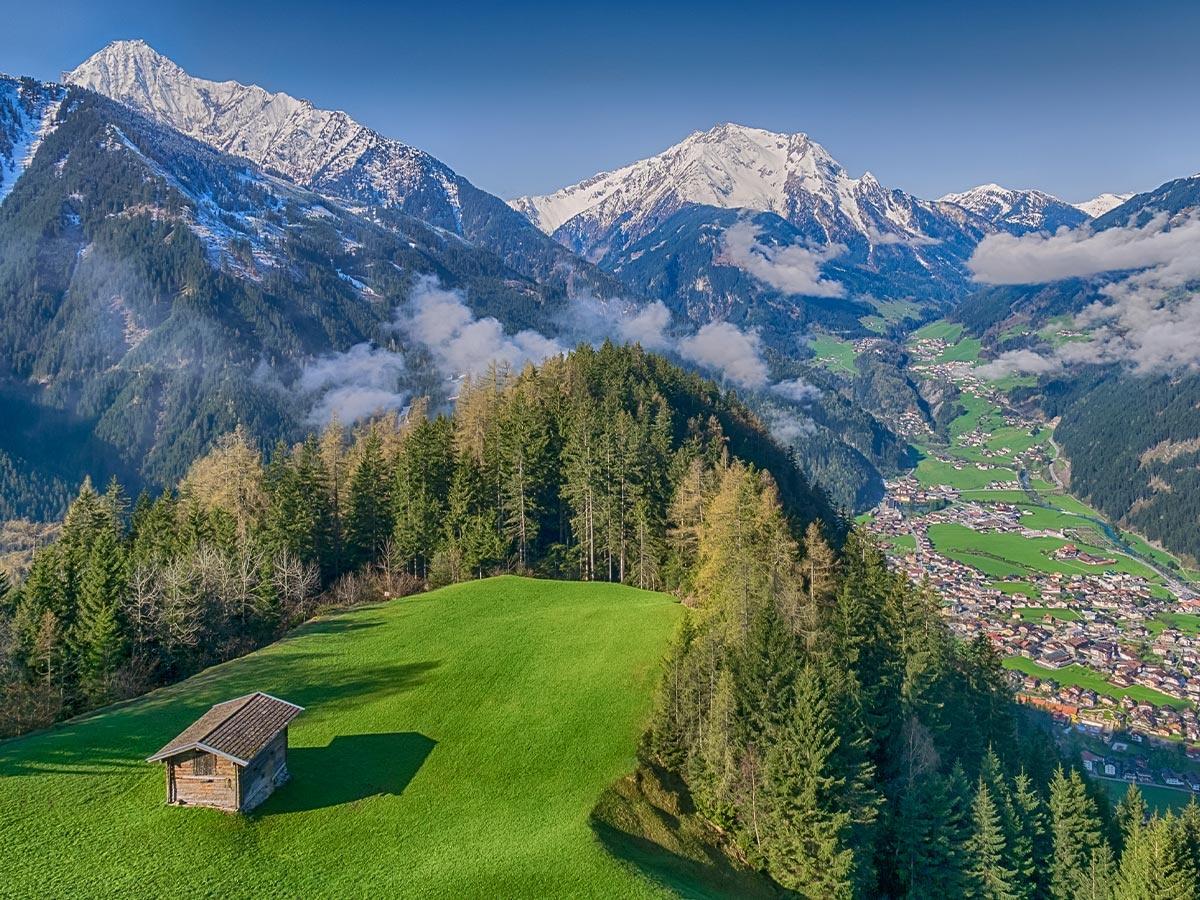
<svg viewBox="0 0 1200 900"><path fill-rule="evenodd" d="M547 234L599 260L644 236L689 204L774 212L822 244L865 246L941 240L926 230L938 204L889 191L870 173L852 178L803 133L744 125L695 132L664 152L514 209Z"/></svg>

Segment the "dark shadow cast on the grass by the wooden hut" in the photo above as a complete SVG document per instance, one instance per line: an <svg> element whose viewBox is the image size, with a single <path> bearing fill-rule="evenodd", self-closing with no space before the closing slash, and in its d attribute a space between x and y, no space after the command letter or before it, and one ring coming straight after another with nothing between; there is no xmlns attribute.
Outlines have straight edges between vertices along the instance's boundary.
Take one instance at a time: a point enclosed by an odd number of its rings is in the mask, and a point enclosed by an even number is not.
<svg viewBox="0 0 1200 900"><path fill-rule="evenodd" d="M341 806L383 794L398 797L437 743L415 731L404 731L338 734L328 746L292 748L288 750L292 781L254 815Z"/></svg>

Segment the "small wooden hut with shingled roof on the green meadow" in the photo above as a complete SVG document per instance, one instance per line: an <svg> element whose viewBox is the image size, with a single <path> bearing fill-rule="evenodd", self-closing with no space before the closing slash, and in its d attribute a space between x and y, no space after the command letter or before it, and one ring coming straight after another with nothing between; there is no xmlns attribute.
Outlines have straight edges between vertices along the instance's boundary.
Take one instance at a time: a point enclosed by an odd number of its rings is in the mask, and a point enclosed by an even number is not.
<svg viewBox="0 0 1200 900"><path fill-rule="evenodd" d="M288 780L288 722L302 712L262 691L228 700L146 762L167 763L167 803L246 812Z"/></svg>

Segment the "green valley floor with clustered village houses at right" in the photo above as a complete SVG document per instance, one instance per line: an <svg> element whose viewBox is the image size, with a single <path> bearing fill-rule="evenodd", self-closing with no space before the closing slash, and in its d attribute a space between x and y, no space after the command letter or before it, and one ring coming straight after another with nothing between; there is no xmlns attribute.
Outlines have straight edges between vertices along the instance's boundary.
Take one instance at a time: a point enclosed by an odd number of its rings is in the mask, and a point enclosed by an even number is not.
<svg viewBox="0 0 1200 900"><path fill-rule="evenodd" d="M1054 424L1009 402L1019 379L979 377L961 326L925 326L907 350L965 412L948 440L916 412L893 422L920 458L863 517L890 564L941 595L956 635L992 642L1018 700L1115 796L1121 782L1166 803L1200 793L1200 574L1066 490Z"/></svg>

